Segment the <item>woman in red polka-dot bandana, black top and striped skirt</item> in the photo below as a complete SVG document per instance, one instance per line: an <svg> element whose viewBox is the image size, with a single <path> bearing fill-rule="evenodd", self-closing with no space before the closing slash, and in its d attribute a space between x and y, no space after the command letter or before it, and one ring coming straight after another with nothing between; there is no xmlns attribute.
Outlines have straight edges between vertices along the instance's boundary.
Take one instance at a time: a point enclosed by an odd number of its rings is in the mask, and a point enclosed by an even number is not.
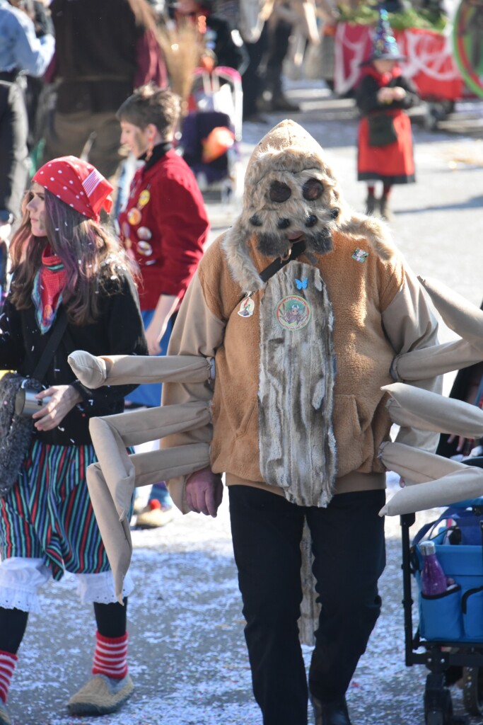
<svg viewBox="0 0 483 725"><path fill-rule="evenodd" d="M1 725L11 722L7 694L28 613L40 610L38 587L64 571L77 575L97 625L93 678L69 701L70 713L114 712L133 690L126 607L114 595L85 482L95 460L89 420L120 413L133 386L86 389L67 363L75 349L147 353L130 262L99 221L101 209L111 207L111 191L91 164L72 156L52 160L35 173L10 244L0 368L33 376L56 324L67 318L67 326L37 394L43 406L33 415L30 449L0 499ZM131 589L128 583L125 597Z"/></svg>

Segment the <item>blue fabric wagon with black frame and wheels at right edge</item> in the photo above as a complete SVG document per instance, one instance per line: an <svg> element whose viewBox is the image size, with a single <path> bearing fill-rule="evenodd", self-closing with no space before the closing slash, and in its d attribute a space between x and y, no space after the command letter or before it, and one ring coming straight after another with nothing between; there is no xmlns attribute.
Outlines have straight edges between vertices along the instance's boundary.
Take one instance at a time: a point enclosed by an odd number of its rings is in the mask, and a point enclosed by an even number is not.
<svg viewBox="0 0 483 725"><path fill-rule="evenodd" d="M483 457L465 461L483 468ZM448 685L463 679L467 713L483 713L483 497L453 504L423 526L410 544L415 515L400 516L403 554L403 610L406 666L424 664L426 725L465 725L469 716L453 715ZM453 586L442 595L421 592L420 544L432 540ZM419 626L413 632L411 577L419 591ZM421 650L424 650L421 652Z"/></svg>

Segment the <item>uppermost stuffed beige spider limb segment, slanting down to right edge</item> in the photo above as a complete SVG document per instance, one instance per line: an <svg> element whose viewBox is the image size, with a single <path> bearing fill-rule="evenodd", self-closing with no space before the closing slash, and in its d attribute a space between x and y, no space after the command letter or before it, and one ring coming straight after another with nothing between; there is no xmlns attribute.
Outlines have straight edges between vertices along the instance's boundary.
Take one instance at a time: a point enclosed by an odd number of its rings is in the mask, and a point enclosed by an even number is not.
<svg viewBox="0 0 483 725"><path fill-rule="evenodd" d="M483 310L440 281L430 277L418 279L450 330L483 355Z"/></svg>

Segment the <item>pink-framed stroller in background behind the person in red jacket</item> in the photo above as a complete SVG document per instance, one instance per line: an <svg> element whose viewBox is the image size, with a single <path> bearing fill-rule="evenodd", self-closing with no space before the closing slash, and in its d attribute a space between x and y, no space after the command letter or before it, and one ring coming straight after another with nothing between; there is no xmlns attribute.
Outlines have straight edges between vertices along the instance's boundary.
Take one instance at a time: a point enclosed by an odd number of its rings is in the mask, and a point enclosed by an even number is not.
<svg viewBox="0 0 483 725"><path fill-rule="evenodd" d="M240 188L243 91L230 67L197 68L182 121L182 157L193 170L206 201L229 202Z"/></svg>

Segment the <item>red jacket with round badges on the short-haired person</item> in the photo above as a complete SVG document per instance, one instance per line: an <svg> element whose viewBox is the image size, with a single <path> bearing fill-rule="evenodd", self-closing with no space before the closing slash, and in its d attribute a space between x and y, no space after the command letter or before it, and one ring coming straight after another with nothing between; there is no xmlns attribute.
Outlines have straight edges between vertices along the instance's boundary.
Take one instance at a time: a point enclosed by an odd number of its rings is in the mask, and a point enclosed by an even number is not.
<svg viewBox="0 0 483 725"><path fill-rule="evenodd" d="M119 226L140 268L141 310L154 310L161 294L182 299L203 256L209 221L196 178L173 149L135 173Z"/></svg>

